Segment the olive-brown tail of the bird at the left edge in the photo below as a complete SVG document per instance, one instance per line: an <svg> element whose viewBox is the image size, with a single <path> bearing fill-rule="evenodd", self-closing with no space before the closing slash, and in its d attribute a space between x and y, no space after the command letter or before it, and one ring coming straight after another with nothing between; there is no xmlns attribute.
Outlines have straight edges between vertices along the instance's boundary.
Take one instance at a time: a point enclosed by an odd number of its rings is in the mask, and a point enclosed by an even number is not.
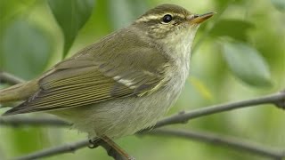
<svg viewBox="0 0 285 160"><path fill-rule="evenodd" d="M12 85L9 88L0 90L0 104L6 105L12 102L27 100L29 96L37 92L37 80Z"/></svg>

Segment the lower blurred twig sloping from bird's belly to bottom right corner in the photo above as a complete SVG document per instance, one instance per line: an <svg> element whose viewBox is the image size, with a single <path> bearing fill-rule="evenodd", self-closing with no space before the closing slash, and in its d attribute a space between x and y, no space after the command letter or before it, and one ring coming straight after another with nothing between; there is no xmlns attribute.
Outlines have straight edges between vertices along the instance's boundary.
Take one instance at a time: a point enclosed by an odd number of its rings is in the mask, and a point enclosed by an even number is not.
<svg viewBox="0 0 285 160"><path fill-rule="evenodd" d="M285 150L278 148L266 148L262 144L257 144L253 141L240 140L230 136L217 135L210 132L197 132L197 131L185 131L177 129L155 129L148 132L151 135L164 135L164 136L174 136L179 138L198 140L201 142L218 144L218 146L225 146L230 148L240 149L242 151L247 151L260 156L269 156L274 159L281 159L285 157Z"/></svg>

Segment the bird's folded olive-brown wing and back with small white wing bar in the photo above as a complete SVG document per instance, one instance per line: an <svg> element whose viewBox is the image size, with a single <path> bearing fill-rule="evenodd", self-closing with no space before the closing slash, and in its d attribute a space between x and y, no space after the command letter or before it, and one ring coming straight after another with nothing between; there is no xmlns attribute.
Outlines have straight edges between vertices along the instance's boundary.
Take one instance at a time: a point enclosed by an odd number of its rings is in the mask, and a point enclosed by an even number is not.
<svg viewBox="0 0 285 160"><path fill-rule="evenodd" d="M40 89L4 115L144 96L159 90L167 81L168 60L154 48L136 46L131 41L114 44L110 39L81 52L47 72L39 80Z"/></svg>

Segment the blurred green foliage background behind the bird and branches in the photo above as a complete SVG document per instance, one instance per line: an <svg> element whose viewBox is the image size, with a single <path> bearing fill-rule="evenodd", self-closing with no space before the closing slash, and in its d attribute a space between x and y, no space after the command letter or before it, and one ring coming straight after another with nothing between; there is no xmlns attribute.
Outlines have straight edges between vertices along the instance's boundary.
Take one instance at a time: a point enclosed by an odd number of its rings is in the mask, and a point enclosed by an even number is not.
<svg viewBox="0 0 285 160"><path fill-rule="evenodd" d="M180 4L195 13L217 12L199 28L191 57L191 76L168 115L256 98L285 88L283 0L0 0L0 69L25 80L37 77L63 55L72 55L126 27L146 10L165 3ZM171 127L232 135L285 148L284 123L284 111L268 105L205 116ZM82 140L85 136L55 127L0 126L0 159ZM116 141L137 159L266 159L172 137L128 136ZM102 148L83 148L74 154L46 159L111 158Z"/></svg>

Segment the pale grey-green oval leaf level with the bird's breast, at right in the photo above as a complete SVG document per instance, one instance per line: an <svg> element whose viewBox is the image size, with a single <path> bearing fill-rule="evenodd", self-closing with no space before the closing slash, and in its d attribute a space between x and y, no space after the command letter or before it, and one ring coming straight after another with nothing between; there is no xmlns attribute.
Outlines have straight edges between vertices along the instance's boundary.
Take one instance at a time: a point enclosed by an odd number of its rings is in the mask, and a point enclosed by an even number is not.
<svg viewBox="0 0 285 160"><path fill-rule="evenodd" d="M253 86L270 86L268 65L256 49L240 42L223 43L224 59L232 73Z"/></svg>

